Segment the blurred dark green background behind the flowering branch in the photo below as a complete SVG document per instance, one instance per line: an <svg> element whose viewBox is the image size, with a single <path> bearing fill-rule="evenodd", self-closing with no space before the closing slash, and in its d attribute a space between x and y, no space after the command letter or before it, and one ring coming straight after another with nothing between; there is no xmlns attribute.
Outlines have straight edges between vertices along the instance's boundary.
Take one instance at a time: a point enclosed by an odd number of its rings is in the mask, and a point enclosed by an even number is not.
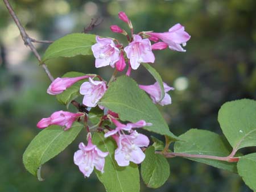
<svg viewBox="0 0 256 192"><path fill-rule="evenodd" d="M217 112L226 101L256 97L256 1L172 0L172 1L11 1L28 34L35 39L55 40L82 32L91 18L104 19L90 31L101 36L121 37L109 30L111 24L127 27L118 19L125 11L135 32L167 31L176 23L191 35L186 53L155 51L153 65L168 85L174 86L172 105L159 107L176 135L189 128L221 134ZM122 38L122 37L121 37ZM35 44L43 55L47 44ZM0 2L0 191L105 191L95 174L84 179L73 164L82 132L59 156L43 166L44 182L28 173L22 154L40 130L36 123L56 110L65 110L48 95L49 80L34 55L24 46L18 28ZM70 70L98 73L108 80L110 67L95 69L92 56L51 60L54 77ZM132 72L140 84L152 77L142 67ZM73 110L73 109L72 109ZM161 137L159 137L161 139ZM255 152L255 148L243 153ZM169 160L171 176L164 186L141 191L251 191L237 174L182 158Z"/></svg>

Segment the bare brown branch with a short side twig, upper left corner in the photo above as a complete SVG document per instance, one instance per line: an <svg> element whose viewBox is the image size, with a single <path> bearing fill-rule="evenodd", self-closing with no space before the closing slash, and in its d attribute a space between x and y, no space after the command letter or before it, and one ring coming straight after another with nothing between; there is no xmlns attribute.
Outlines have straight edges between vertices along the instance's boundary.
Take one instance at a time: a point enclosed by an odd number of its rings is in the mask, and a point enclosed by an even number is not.
<svg viewBox="0 0 256 192"><path fill-rule="evenodd" d="M34 55L36 56L36 59L38 59L38 61L41 63L41 57L38 53L38 51L36 51L34 45L32 44L32 42L35 42L35 39L32 39L30 36L27 35L27 32L25 31L24 27L22 26L22 24L20 23L18 17L16 16L13 7L11 7L10 3L8 0L3 0L3 2L5 3L8 11L10 12L11 17L13 18L14 22L16 23L16 26L19 28L19 32L20 35L22 36L22 39L24 41L24 44L27 45L28 47L30 47L31 51L34 53ZM37 41L36 43L39 43L39 41ZM40 43L46 43L45 41L40 41ZM49 42L48 42L49 43ZM54 78L52 77L51 73L49 72L49 69L47 68L45 63L41 64L44 71L46 72L47 76L49 77L49 79L51 81L54 80Z"/></svg>

